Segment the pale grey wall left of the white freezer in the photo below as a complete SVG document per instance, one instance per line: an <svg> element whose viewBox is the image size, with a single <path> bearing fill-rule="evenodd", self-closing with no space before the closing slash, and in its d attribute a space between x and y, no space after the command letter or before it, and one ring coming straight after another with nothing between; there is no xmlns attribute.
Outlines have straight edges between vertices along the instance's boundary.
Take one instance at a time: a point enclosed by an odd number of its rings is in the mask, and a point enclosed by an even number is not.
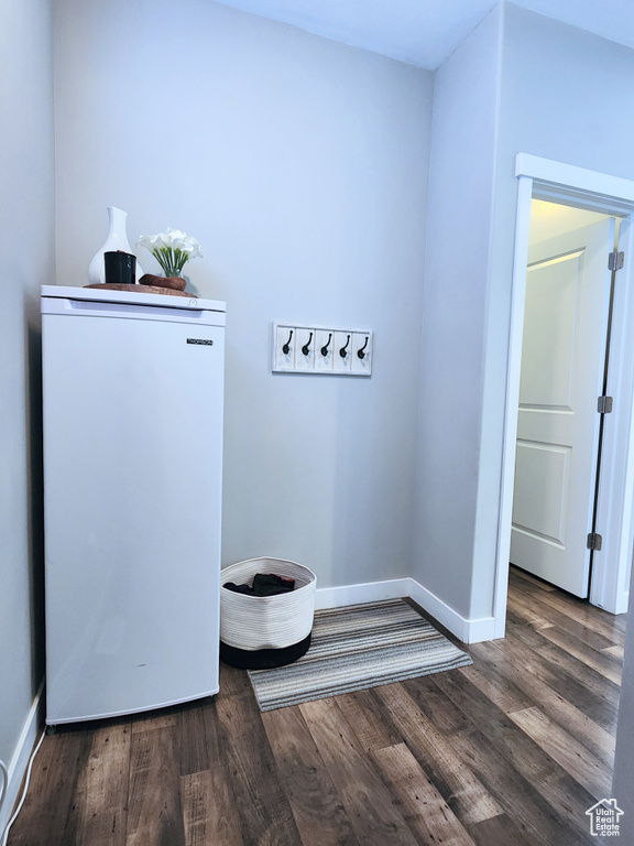
<svg viewBox="0 0 634 846"><path fill-rule="evenodd" d="M18 748L43 674L39 289L54 271L50 0L0 8L0 758ZM24 750L30 752L30 747Z"/></svg>

